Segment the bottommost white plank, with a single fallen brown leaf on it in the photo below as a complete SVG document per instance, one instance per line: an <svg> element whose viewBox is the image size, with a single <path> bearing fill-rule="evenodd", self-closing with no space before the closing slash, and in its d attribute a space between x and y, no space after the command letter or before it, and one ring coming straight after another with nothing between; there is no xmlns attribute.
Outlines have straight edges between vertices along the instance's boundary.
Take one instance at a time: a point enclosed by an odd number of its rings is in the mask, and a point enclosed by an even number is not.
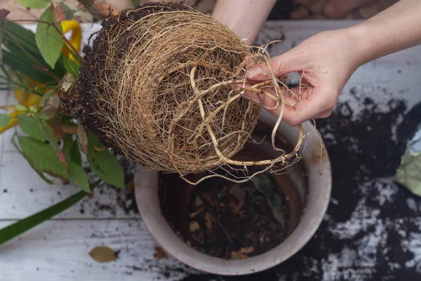
<svg viewBox="0 0 421 281"><path fill-rule="evenodd" d="M118 259L91 259L100 245L119 251ZM138 219L48 221L1 246L0 280L181 280L199 273L173 258L154 259L155 246Z"/></svg>

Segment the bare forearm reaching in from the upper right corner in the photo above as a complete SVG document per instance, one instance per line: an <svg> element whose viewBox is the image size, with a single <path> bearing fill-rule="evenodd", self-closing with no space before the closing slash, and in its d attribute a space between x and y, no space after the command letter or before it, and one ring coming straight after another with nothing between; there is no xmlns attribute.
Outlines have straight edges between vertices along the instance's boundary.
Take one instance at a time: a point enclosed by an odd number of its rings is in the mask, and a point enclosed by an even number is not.
<svg viewBox="0 0 421 281"><path fill-rule="evenodd" d="M361 64L421 43L421 1L401 0L373 18L350 27Z"/></svg>

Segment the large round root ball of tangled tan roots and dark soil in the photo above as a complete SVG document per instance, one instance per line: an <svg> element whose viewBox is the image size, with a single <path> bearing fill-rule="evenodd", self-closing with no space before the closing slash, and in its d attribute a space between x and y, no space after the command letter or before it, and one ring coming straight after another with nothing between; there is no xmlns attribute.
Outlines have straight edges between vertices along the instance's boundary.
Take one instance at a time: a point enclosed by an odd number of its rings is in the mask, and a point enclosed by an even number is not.
<svg viewBox="0 0 421 281"><path fill-rule="evenodd" d="M105 145L155 171L183 178L225 164L260 165L266 171L300 148L301 137L293 152L282 150L276 159L231 159L260 113L243 93L265 94L283 109L283 89L273 72L269 81L246 84L246 65L269 66L269 55L253 52L210 15L182 4L149 4L109 15L93 48L83 51L82 124ZM265 91L269 86L276 96ZM276 126L280 121L281 116Z"/></svg>

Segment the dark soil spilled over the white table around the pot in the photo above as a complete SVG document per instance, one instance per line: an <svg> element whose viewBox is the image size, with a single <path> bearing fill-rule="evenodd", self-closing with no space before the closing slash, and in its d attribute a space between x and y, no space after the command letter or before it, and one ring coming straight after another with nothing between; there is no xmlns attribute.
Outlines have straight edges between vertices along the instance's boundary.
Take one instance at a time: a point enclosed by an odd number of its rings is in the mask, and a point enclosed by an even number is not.
<svg viewBox="0 0 421 281"><path fill-rule="evenodd" d="M239 277L202 273L151 254L127 266L126 274L142 271L171 281L421 280L421 198L393 180L406 140L420 122L421 103L407 108L404 95L398 99L385 89L350 91L331 117L317 121L333 169L332 197L321 226L297 254L275 268ZM115 196L114 189L98 192ZM119 204L133 206L132 191L115 192ZM104 214L115 203L98 204L108 206L94 207Z"/></svg>

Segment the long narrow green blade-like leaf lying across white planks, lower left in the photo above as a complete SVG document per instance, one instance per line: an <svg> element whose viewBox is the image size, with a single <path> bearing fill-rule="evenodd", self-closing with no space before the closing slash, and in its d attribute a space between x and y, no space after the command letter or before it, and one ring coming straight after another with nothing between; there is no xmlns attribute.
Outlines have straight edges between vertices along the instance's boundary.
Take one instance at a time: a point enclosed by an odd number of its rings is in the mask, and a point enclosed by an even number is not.
<svg viewBox="0 0 421 281"><path fill-rule="evenodd" d="M32 216L28 216L27 218L13 223L11 226L6 226L6 228L0 230L0 244L25 233L27 230L33 228L34 226L38 226L40 223L43 223L53 216L60 214L62 211L65 211L79 202L83 197L85 197L85 195L86 192L84 191L77 192L75 195L70 196L62 202L58 202L47 209L33 214Z"/></svg>

